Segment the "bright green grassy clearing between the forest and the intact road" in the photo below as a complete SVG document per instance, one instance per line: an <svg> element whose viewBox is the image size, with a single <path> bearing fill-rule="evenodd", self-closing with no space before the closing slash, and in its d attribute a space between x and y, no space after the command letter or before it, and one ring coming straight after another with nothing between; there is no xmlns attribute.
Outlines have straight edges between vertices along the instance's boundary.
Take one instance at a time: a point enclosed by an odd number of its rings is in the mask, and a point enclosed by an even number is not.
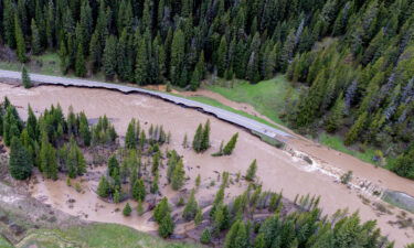
<svg viewBox="0 0 414 248"><path fill-rule="evenodd" d="M286 106L287 94L291 94L290 99L298 97L291 84L282 75L254 85L238 80L233 87L229 87L229 83L219 82L216 85L206 86L206 88L233 101L250 104L258 112L277 123L284 123L279 114Z"/></svg>

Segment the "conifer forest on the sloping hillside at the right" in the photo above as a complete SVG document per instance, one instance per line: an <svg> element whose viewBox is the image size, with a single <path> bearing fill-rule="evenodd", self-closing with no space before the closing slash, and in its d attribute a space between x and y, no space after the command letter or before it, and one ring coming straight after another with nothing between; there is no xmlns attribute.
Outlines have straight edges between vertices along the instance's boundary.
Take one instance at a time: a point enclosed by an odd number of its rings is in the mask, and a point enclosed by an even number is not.
<svg viewBox="0 0 414 248"><path fill-rule="evenodd" d="M369 143L385 155L412 158L414 1L328 3L320 34L338 37L295 55L287 77L305 87L298 101L288 103L286 118L304 132L323 128L344 133L346 145ZM390 168L414 179L413 164Z"/></svg>

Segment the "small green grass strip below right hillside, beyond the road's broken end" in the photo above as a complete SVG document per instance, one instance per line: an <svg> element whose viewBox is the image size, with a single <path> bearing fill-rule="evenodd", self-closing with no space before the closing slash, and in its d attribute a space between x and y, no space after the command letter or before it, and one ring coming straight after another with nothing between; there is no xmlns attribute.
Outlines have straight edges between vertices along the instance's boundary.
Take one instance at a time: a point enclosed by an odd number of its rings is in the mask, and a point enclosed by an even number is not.
<svg viewBox="0 0 414 248"><path fill-rule="evenodd" d="M374 163L374 161L372 160L372 158L374 158L374 155L375 155L374 149L369 148L369 149L365 150L365 152L351 150L343 144L342 138L340 138L338 136L327 134L326 132L322 132L319 136L319 142L321 144L325 144L325 145L327 145L329 148L332 148L337 151L340 151L340 152L350 154L352 157L355 157L355 158L358 158L358 159L360 159L360 160L362 160L367 163Z"/></svg>

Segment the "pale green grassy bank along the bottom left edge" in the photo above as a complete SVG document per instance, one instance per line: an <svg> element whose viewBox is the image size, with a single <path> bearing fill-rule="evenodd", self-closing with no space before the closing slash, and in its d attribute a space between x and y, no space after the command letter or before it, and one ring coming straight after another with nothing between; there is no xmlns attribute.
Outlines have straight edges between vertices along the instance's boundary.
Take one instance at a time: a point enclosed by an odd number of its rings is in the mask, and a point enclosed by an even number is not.
<svg viewBox="0 0 414 248"><path fill-rule="evenodd" d="M85 248L197 248L197 244L166 241L161 238L137 231L117 224L91 224L64 230L32 230L17 247L36 245L42 248L85 247ZM0 246L1 247L1 246Z"/></svg>

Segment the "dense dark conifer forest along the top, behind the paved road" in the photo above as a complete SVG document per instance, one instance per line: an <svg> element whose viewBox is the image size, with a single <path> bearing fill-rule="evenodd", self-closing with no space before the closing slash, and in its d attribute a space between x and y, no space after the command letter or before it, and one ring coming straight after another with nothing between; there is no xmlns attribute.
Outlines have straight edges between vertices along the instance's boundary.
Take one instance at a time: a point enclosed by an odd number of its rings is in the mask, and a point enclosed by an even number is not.
<svg viewBox="0 0 414 248"><path fill-rule="evenodd" d="M195 89L206 73L256 83L311 48L344 0L1 0L0 42L55 51L62 72ZM339 24L338 24L339 25ZM344 29L336 29L342 34Z"/></svg>

